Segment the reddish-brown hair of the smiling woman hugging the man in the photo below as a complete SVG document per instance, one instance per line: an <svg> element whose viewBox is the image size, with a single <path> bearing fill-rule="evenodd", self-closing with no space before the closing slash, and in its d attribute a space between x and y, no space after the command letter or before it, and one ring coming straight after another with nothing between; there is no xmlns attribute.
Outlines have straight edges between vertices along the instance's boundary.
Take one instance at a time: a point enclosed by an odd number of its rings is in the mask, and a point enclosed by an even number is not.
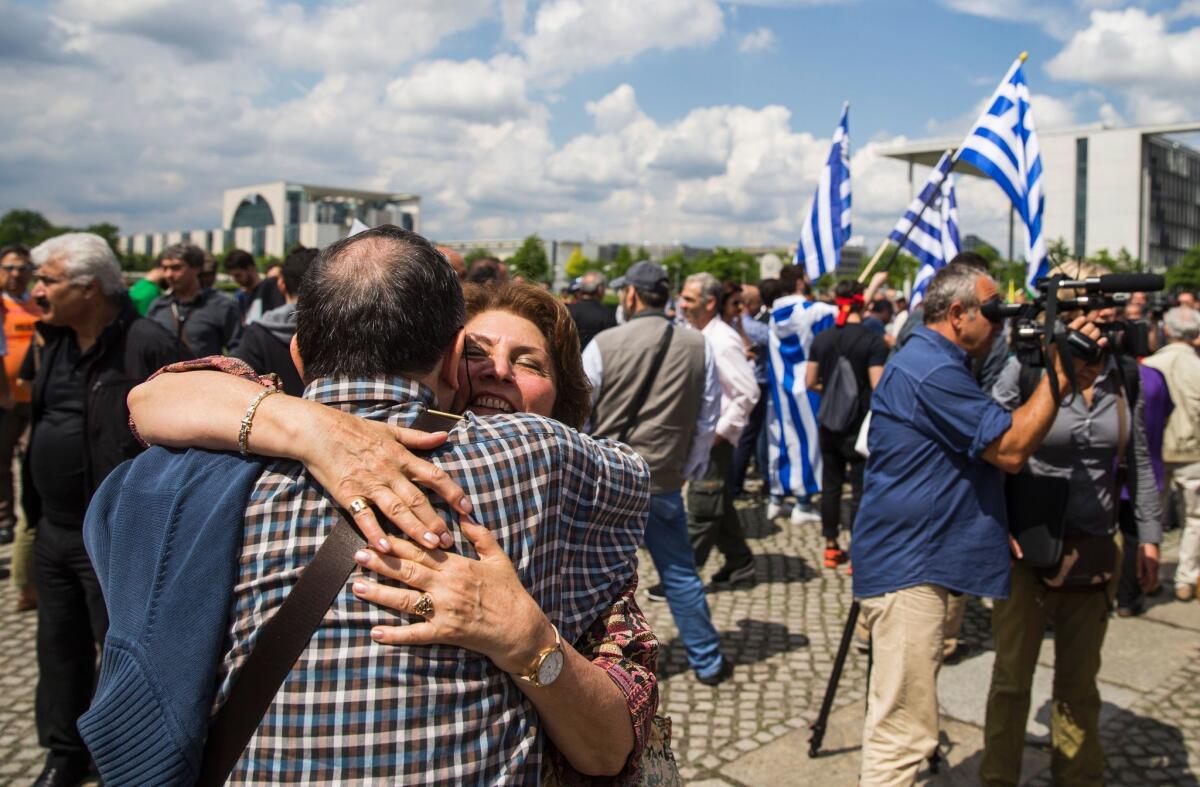
<svg viewBox="0 0 1200 787"><path fill-rule="evenodd" d="M464 284L467 319L490 311L509 312L533 323L546 337L554 365L554 410L551 416L576 429L583 428L592 410L588 378L583 373L580 334L562 302L546 290L524 282L498 286Z"/></svg>

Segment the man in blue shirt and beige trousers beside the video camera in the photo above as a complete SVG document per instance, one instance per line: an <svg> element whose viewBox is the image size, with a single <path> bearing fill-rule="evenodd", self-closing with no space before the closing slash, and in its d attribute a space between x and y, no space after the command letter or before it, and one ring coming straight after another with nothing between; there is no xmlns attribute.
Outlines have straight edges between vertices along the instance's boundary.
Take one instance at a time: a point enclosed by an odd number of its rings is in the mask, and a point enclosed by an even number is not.
<svg viewBox="0 0 1200 787"><path fill-rule="evenodd" d="M961 264L938 271L925 295L925 325L887 365L871 399L851 547L854 596L876 661L862 785L911 785L934 753L947 601L952 593L1007 597L1003 473L1019 470L1038 447L1069 385L1055 358L1057 395L1043 378L1012 414L979 389L971 359L985 356L1000 332L982 311L994 300L996 283L985 272ZM1099 338L1082 319L1072 328ZM1076 362L1080 389L1098 372Z"/></svg>

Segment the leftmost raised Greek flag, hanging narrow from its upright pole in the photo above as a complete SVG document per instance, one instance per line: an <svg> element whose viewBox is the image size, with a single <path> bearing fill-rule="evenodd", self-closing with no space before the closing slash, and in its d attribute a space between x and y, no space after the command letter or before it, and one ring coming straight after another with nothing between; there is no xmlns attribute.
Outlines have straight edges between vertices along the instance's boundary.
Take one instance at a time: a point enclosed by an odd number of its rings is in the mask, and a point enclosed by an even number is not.
<svg viewBox="0 0 1200 787"><path fill-rule="evenodd" d="M829 158L821 169L808 214L792 262L804 265L809 280L815 282L838 268L841 247L850 239L850 102L841 107Z"/></svg>

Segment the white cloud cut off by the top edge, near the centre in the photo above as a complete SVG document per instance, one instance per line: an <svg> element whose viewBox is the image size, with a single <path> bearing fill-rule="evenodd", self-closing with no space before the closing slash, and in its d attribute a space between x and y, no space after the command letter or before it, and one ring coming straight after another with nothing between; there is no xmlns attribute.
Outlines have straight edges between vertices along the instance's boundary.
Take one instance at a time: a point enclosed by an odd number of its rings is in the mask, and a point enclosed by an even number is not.
<svg viewBox="0 0 1200 787"><path fill-rule="evenodd" d="M521 46L533 77L562 84L650 49L708 44L724 31L716 0L548 0Z"/></svg>

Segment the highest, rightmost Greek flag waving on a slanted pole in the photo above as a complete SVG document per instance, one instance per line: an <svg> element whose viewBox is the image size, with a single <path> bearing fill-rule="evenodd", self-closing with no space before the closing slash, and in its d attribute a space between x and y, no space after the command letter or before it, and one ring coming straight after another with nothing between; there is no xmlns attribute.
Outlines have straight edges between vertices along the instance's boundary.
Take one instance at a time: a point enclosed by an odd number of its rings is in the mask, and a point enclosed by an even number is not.
<svg viewBox="0 0 1200 787"><path fill-rule="evenodd" d="M1042 156L1038 134L1033 126L1030 88L1025 84L1021 64L1025 55L1013 61L1008 74L996 88L986 112L979 115L955 158L986 173L1000 184L1025 223L1025 286L1046 275L1050 264L1046 244L1042 236Z"/></svg>

